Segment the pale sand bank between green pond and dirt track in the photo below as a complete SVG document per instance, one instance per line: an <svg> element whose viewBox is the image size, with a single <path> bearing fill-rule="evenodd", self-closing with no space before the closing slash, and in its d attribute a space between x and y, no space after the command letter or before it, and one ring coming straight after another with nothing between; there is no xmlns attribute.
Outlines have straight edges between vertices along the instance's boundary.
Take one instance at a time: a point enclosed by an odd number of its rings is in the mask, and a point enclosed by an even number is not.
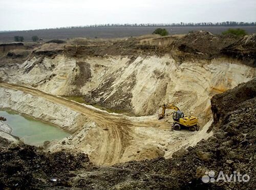
<svg viewBox="0 0 256 190"><path fill-rule="evenodd" d="M0 108L8 108L74 132L81 128L86 118L68 107L46 101L22 91L0 88Z"/></svg>

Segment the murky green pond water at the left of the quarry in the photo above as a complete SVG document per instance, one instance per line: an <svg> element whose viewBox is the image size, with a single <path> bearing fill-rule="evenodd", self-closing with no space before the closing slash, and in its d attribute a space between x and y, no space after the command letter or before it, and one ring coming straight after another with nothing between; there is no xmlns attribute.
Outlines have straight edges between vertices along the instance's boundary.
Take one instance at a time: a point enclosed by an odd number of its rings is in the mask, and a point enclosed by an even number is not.
<svg viewBox="0 0 256 190"><path fill-rule="evenodd" d="M7 121L4 123L12 127L11 134L29 145L42 145L44 141L60 140L70 135L69 132L57 126L19 115L13 111L0 110L0 116L5 117Z"/></svg>

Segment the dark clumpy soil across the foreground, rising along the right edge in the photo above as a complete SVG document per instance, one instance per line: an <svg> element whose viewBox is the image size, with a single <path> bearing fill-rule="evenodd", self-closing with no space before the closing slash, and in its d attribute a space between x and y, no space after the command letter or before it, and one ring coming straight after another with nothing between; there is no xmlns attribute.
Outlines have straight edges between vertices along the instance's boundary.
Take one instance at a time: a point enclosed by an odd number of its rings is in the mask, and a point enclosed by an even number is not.
<svg viewBox="0 0 256 190"><path fill-rule="evenodd" d="M1 150L0 188L254 189L256 185L256 78L211 99L215 133L172 159L93 167L84 154L43 154L35 147ZM76 172L72 172L76 171ZM202 181L207 171L250 176L248 182ZM57 181L51 179L56 177ZM58 180L59 179L59 180Z"/></svg>

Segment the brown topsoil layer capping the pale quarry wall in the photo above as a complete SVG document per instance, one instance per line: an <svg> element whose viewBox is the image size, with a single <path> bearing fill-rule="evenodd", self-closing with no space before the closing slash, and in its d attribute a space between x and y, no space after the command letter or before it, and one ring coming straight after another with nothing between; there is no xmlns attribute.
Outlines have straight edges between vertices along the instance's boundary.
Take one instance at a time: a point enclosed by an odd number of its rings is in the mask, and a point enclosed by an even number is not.
<svg viewBox="0 0 256 190"><path fill-rule="evenodd" d="M75 39L70 43L58 43L49 41L51 47L34 45L23 49L30 49L30 58L50 57L54 58L60 53L70 57L83 58L87 56L164 56L171 55L176 61L211 60L219 57L228 57L241 60L246 65L256 66L256 34L245 37L232 35L213 35L206 31L196 31L183 37L145 37L127 38L125 40L86 40ZM143 43L142 43L143 42ZM55 44L55 45L53 45ZM11 44L12 45L12 44ZM9 62L19 63L20 58L27 57L27 52L12 52L16 49L10 44L3 44L0 53L6 56L0 59L0 66ZM9 53L7 53L10 51ZM17 59L19 58L19 59Z"/></svg>

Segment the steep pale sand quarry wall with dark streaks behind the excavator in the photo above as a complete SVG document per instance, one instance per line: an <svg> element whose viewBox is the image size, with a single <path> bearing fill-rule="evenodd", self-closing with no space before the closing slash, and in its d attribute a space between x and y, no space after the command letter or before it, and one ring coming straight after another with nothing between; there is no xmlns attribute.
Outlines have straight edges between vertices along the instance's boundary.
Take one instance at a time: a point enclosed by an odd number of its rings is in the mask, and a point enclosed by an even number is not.
<svg viewBox="0 0 256 190"><path fill-rule="evenodd" d="M153 115L159 105L175 103L203 126L210 118L210 98L255 77L255 68L228 59L178 64L169 56L34 57L17 69L0 69L10 83L30 85L61 96L129 112ZM171 112L171 111L167 111Z"/></svg>

